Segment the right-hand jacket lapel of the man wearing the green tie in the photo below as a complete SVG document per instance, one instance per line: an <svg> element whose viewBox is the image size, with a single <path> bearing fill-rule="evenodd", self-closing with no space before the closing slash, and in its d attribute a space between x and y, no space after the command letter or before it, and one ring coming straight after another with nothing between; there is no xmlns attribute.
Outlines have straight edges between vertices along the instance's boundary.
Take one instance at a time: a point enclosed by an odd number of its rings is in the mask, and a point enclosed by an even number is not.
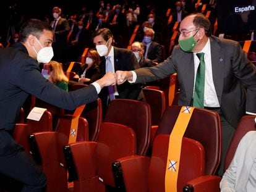
<svg viewBox="0 0 256 192"><path fill-rule="evenodd" d="M221 51L220 44L214 39L210 38L211 43L211 68L213 70L213 83L215 91L220 102L223 90L223 51ZM221 102L220 102L221 103Z"/></svg>

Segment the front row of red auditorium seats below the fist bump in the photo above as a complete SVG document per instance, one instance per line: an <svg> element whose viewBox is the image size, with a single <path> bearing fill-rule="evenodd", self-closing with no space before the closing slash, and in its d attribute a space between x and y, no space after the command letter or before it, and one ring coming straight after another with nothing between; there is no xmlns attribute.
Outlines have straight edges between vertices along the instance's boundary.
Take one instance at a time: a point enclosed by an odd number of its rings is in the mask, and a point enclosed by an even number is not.
<svg viewBox="0 0 256 192"><path fill-rule="evenodd" d="M164 189L166 167L163 162L166 162L168 135L180 109L181 106L165 109L151 143L153 136L150 106L140 101L114 99L109 105L105 122L100 125L96 142L85 139L87 141L68 144L67 136L61 133L41 132L34 133L30 138L30 141L34 141L30 151L46 172L48 191L68 190L67 170L69 182L74 181L74 191L105 191L106 186L111 189L119 188L121 191L159 191ZM237 128L233 138L236 143L231 144L233 149L229 151L234 152L238 139L245 131L254 129L252 118L254 117L249 116L241 120L241 128ZM243 121L250 124L246 125L247 129L242 125ZM216 184L220 182L220 178L212 176L216 173L221 158L218 114L206 109L195 109L184 136L186 138L182 141L182 169L178 178L178 191L186 183L192 184L195 189L209 185L205 184L208 180L215 186L213 191L218 191ZM65 156L62 151L64 146ZM150 155L149 150L152 150ZM233 156L234 153L230 153ZM230 162L230 156L227 158ZM198 180L205 183L199 185ZM56 188L57 182L61 188Z"/></svg>

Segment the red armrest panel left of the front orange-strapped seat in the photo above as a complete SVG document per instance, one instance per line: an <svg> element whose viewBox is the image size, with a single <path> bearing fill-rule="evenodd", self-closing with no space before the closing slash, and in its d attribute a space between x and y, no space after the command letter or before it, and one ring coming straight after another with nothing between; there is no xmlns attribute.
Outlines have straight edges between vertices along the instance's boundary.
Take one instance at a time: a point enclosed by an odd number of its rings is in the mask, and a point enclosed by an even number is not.
<svg viewBox="0 0 256 192"><path fill-rule="evenodd" d="M117 159L113 165L114 167L118 168L113 169L116 186L122 189L125 188L126 192L148 191L148 170L150 165L150 157L122 157ZM117 177L119 177L119 179Z"/></svg>

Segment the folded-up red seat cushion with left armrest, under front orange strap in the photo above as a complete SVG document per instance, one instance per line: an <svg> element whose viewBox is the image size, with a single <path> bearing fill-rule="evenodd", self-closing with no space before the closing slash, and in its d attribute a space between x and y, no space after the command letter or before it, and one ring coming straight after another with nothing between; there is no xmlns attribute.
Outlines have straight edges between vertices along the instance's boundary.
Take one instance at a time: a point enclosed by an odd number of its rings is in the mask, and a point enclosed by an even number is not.
<svg viewBox="0 0 256 192"><path fill-rule="evenodd" d="M127 192L166 191L164 178L167 169L168 146L169 135L158 135L153 143L151 158L128 156L118 159L113 165L113 171L114 175L118 175L118 172L123 174L124 186L119 183L119 187ZM177 191L181 191L188 180L203 175L204 158L202 144L189 138L182 139ZM175 167L173 170L169 169L170 171L176 170Z"/></svg>

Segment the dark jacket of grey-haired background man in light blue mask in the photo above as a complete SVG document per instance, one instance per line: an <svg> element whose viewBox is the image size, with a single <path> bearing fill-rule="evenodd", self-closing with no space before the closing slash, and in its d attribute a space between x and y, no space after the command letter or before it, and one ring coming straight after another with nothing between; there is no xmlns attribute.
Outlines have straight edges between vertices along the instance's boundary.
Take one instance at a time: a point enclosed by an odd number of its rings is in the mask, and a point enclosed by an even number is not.
<svg viewBox="0 0 256 192"><path fill-rule="evenodd" d="M147 49L147 47L145 46L145 50L146 49ZM152 41L152 43L150 44L150 46L148 48L147 58L153 62L157 62L157 63L163 62L163 60L164 60L163 47L161 46L161 44L156 43L155 41Z"/></svg>

